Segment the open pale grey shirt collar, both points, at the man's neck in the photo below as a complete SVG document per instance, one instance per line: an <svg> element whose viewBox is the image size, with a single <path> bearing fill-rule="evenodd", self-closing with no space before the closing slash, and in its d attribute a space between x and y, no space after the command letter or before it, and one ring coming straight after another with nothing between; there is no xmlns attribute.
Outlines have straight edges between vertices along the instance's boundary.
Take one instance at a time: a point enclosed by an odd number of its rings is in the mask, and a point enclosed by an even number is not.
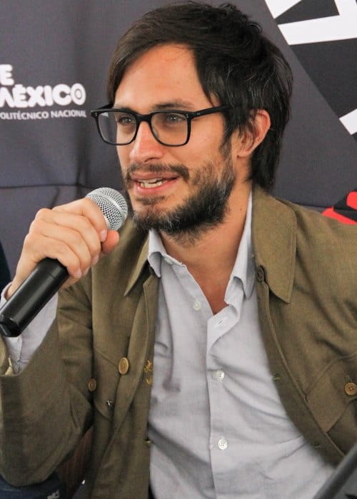
<svg viewBox="0 0 357 499"><path fill-rule="evenodd" d="M251 210L252 210L252 194L250 193L248 199L248 206L246 212L246 222L244 224L243 235L239 244L236 262L234 263L231 278L228 282L227 292L232 285L234 277L241 280L243 284L243 291L246 297L250 297L253 292L255 270L252 256L251 245ZM180 264L178 260L167 254L166 249L161 241L159 232L152 229L149 231L149 255L148 262L154 270L157 277L161 277L161 260L171 262L172 264Z"/></svg>

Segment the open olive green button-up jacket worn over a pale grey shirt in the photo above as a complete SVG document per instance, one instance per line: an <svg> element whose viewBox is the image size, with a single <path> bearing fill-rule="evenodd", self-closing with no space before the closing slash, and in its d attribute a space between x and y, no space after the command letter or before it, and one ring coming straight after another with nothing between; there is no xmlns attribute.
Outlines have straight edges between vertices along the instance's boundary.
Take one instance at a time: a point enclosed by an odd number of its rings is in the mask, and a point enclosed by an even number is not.
<svg viewBox="0 0 357 499"><path fill-rule="evenodd" d="M357 440L357 227L256 187L252 237L273 382L291 420L337 463ZM0 377L0 475L10 483L44 480L94 425L89 497L147 497L158 292L147 253L127 222L117 249L61 294L29 366ZM5 373L3 344L0 362Z"/></svg>

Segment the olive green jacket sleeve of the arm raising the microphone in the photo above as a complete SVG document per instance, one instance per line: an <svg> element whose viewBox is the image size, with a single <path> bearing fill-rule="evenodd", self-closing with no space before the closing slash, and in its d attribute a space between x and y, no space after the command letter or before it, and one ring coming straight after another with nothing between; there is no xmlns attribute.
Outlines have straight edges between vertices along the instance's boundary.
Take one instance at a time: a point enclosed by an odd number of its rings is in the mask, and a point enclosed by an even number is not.
<svg viewBox="0 0 357 499"><path fill-rule="evenodd" d="M9 365L0 341L0 475L12 485L39 483L91 426L88 294L81 284L61 293L54 324L20 374L5 374Z"/></svg>

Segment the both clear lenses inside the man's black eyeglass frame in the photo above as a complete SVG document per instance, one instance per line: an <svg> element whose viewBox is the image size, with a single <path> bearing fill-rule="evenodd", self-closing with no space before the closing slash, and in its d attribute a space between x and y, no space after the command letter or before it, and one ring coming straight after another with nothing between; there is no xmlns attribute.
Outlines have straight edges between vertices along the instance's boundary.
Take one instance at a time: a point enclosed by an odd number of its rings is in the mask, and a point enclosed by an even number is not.
<svg viewBox="0 0 357 499"><path fill-rule="evenodd" d="M124 111L109 111L99 115L99 127L105 140L124 145L133 140L137 120L134 114ZM162 143L181 145L186 142L188 123L186 116L171 111L158 111L151 115L151 131Z"/></svg>

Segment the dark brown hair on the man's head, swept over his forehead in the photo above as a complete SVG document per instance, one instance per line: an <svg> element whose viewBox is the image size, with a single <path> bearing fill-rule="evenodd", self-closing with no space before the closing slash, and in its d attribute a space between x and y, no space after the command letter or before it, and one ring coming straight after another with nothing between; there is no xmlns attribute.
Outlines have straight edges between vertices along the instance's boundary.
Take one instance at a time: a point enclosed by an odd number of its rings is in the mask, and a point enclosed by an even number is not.
<svg viewBox="0 0 357 499"><path fill-rule="evenodd" d="M253 153L251 178L273 185L283 130L290 114L291 69L261 26L232 4L211 6L186 1L144 14L119 39L109 71L109 103L129 66L150 48L180 43L191 48L198 78L211 101L232 106L225 113L227 141L234 130L253 132L254 110L271 118L266 138Z"/></svg>

